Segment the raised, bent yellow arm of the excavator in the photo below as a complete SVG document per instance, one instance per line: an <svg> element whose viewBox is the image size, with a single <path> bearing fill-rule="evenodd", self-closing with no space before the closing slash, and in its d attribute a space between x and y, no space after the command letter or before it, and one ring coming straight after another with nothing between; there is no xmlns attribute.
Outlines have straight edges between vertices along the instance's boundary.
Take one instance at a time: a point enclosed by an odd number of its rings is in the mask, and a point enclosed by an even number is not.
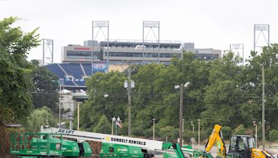
<svg viewBox="0 0 278 158"><path fill-rule="evenodd" d="M205 147L205 152L210 152L211 148L213 147L213 145L217 144L217 155L220 157L225 157L226 155L226 146L224 144L224 140L222 137L222 132L221 132L221 125L214 125L213 128L213 132L211 133L211 135L208 138L208 142L206 143L206 147Z"/></svg>

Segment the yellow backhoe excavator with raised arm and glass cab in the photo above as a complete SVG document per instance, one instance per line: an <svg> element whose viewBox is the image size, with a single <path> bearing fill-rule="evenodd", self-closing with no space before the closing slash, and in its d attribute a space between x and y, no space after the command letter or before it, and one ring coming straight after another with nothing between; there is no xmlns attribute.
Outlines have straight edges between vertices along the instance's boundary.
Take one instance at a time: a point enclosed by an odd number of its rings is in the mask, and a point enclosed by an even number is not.
<svg viewBox="0 0 278 158"><path fill-rule="evenodd" d="M213 132L208 138L204 152L210 152L216 142L217 157L274 158L269 152L256 148L256 139L249 135L231 136L229 152L227 152L221 128L221 125L214 125Z"/></svg>

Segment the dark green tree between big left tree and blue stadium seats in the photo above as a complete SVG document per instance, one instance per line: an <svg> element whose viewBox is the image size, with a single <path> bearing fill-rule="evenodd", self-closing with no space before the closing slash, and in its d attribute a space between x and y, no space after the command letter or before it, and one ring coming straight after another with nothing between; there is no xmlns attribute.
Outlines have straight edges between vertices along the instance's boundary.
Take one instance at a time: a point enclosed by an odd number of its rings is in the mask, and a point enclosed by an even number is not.
<svg viewBox="0 0 278 158"><path fill-rule="evenodd" d="M46 67L39 67L38 60L33 63L33 105L35 108L43 106L49 107L54 112L58 112L58 77L51 73Z"/></svg>

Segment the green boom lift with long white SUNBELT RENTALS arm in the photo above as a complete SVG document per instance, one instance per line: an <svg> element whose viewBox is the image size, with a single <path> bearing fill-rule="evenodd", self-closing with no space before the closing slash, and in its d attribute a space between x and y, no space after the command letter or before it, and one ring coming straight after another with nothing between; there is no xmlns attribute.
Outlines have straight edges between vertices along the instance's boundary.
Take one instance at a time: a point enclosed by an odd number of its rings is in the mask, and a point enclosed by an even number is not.
<svg viewBox="0 0 278 158"><path fill-rule="evenodd" d="M78 130L65 130L42 126L40 132L62 134L65 138L76 139L78 142L99 141L102 144L100 157L152 157L147 150L161 151L172 148L178 157L185 157L178 143L154 141L122 137L111 134L84 132Z"/></svg>

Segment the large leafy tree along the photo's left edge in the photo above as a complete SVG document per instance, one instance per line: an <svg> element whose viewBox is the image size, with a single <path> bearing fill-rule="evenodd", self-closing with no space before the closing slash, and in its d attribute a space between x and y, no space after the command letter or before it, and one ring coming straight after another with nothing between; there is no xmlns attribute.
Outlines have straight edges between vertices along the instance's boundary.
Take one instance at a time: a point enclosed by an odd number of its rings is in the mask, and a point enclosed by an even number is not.
<svg viewBox="0 0 278 158"><path fill-rule="evenodd" d="M31 64L26 54L39 45L35 30L24 33L13 28L16 17L0 21L0 121L24 121L32 111Z"/></svg>

